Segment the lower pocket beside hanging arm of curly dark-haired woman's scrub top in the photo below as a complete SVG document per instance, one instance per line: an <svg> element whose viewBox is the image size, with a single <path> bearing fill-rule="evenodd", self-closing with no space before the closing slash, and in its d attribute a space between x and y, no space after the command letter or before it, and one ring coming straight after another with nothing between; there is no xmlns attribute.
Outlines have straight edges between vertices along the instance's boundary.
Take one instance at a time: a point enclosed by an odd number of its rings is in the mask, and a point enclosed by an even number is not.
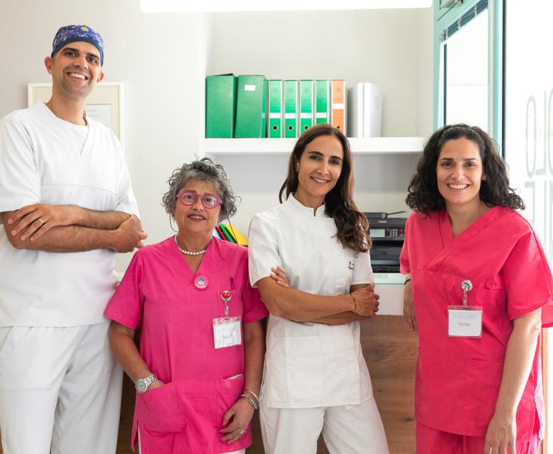
<svg viewBox="0 0 553 454"><path fill-rule="evenodd" d="M503 375L503 362L469 360L464 384L464 411L477 426L488 426Z"/></svg>

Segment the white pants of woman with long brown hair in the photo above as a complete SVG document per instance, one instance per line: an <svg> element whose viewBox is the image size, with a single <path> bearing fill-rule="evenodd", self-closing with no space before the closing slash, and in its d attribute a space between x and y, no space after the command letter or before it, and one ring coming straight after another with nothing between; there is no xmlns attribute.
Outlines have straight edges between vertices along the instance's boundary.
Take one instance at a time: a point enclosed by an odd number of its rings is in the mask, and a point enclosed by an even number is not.
<svg viewBox="0 0 553 454"><path fill-rule="evenodd" d="M259 409L265 454L316 454L321 431L330 454L389 454L374 398L359 405Z"/></svg>

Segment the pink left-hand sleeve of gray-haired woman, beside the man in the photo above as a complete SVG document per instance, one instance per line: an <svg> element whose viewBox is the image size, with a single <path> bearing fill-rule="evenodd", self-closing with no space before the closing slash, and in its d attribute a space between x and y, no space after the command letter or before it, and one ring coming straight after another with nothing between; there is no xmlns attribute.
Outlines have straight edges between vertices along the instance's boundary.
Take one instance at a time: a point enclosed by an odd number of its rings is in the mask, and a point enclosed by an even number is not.
<svg viewBox="0 0 553 454"><path fill-rule="evenodd" d="M130 261L121 284L111 297L104 315L130 329L142 323L144 296L142 291L144 267L140 253Z"/></svg>

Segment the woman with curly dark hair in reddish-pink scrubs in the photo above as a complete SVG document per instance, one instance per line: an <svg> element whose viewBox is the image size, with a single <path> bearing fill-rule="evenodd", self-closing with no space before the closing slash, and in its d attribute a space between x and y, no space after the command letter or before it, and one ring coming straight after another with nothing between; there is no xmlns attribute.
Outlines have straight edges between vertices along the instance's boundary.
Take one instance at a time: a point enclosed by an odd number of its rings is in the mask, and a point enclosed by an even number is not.
<svg viewBox="0 0 553 454"><path fill-rule="evenodd" d="M493 140L464 124L434 133L407 204L401 270L420 341L417 453L536 453L553 280Z"/></svg>

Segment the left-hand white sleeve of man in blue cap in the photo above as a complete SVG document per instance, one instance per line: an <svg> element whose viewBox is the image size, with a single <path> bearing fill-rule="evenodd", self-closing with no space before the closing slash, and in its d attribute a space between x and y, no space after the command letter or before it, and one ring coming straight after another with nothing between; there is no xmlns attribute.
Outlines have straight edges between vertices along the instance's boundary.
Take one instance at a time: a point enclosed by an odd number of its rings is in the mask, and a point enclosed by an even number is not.
<svg viewBox="0 0 553 454"><path fill-rule="evenodd" d="M0 121L0 212L40 203L40 174L26 128L11 118Z"/></svg>

